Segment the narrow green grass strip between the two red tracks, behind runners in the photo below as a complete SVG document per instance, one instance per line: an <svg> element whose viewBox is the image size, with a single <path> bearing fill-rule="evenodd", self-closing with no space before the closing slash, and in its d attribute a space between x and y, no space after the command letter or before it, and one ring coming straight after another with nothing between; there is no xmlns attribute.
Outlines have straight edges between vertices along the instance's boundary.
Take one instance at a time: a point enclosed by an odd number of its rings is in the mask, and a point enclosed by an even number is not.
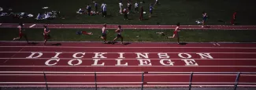
<svg viewBox="0 0 256 90"><path fill-rule="evenodd" d="M83 31L92 32L93 35L78 35L76 31L81 29L50 29L52 39L50 41L102 41L98 38L101 35L99 29L83 29ZM165 35L156 34L164 32ZM43 41L43 29L26 29L30 41ZM232 41L232 42L253 42L256 41L256 31L223 31L223 30L183 30L180 31L180 41L185 42L211 42L211 41ZM170 41L175 42L176 38L167 38L172 36L170 30L124 30L124 41ZM114 30L109 30L108 41L112 41L116 34ZM11 41L18 37L17 28L2 28L0 31L0 41ZM24 38L22 39L24 41ZM119 40L120 41L120 40Z"/></svg>

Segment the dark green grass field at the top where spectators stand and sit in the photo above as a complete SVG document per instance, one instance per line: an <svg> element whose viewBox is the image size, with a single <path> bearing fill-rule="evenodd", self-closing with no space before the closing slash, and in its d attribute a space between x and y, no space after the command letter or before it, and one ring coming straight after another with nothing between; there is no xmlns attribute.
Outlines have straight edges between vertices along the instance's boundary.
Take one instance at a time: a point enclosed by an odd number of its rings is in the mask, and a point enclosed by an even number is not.
<svg viewBox="0 0 256 90"><path fill-rule="evenodd" d="M149 4L155 0L144 0L144 11L149 10ZM94 6L91 0L5 0L0 3L4 9L11 8L14 13L44 13L42 7L48 6L50 10L61 11L61 18L55 20L37 21L35 18L23 19L24 23L115 23L115 24L196 24L195 20L202 19L202 12L206 11L210 16L206 24L229 24L232 13L237 11L238 24L256 24L255 0L160 0L161 5L154 6L154 17L139 21L139 13L132 13L128 16L131 20L124 20L124 16L118 14L119 0L97 0L99 5L102 2L107 4L108 17L78 15L76 11L85 9L87 4ZM134 0L132 1L134 5ZM123 0L126 5L127 0ZM133 6L132 6L133 7ZM94 8L93 8L94 9ZM98 7L100 9L100 7ZM220 22L223 20L224 22ZM11 17L0 17L0 23L18 23L20 20Z"/></svg>

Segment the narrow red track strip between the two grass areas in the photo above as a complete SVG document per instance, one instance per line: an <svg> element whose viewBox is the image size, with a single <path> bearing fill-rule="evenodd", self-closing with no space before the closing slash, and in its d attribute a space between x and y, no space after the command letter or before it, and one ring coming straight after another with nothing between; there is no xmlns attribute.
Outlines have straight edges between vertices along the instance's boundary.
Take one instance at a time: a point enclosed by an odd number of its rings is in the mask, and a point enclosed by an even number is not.
<svg viewBox="0 0 256 90"><path fill-rule="evenodd" d="M102 24L43 24L43 23L24 23L25 28L102 28ZM1 23L0 27L18 27L17 23ZM121 25L123 29L175 29L176 25ZM116 24L107 25L108 29L116 29ZM231 26L231 25L208 25L202 28L200 25L180 25L180 29L188 30L256 30L254 25Z"/></svg>

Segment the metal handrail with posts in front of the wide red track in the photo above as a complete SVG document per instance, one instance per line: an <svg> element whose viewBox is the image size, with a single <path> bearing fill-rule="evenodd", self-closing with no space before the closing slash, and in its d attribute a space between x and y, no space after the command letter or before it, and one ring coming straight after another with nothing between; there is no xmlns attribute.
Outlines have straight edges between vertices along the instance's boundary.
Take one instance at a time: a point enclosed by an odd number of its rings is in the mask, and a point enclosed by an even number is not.
<svg viewBox="0 0 256 90"><path fill-rule="evenodd" d="M112 84L112 85L124 85L124 84L141 84L141 88L143 90L143 85L144 84L188 84L189 86L189 90L191 90L191 86L192 84L198 85L198 84L202 84L202 85L233 85L234 86L234 90L236 90L236 88L239 85L255 85L256 86L256 82L239 82L239 77L242 74L256 74L256 72L68 72L68 71L0 71L0 75L8 75L8 74L43 74L44 78L45 78L45 82L0 82L0 84L46 84L46 88L48 89L47 85L54 85L54 84L69 84L69 85L95 85L95 88L97 90L97 85L101 84L101 85L105 85L105 84ZM46 81L46 75L47 74L94 74L95 75L95 82L47 82ZM141 74L142 76L142 81L141 82L98 82L97 81L97 75L96 74ZM190 74L190 79L188 82L144 82L144 76L146 74ZM236 81L234 82L192 82L192 78L194 74L232 74L232 75L236 75Z"/></svg>

